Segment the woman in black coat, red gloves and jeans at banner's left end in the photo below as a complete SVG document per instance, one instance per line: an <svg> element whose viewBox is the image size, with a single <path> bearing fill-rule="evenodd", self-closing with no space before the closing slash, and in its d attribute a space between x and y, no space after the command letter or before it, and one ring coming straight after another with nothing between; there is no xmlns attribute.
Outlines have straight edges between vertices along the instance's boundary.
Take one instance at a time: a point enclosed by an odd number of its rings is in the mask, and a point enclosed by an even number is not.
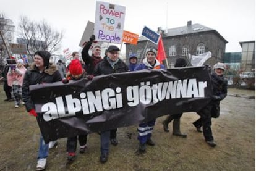
<svg viewBox="0 0 256 171"><path fill-rule="evenodd" d="M25 107L30 115L37 116L35 105L30 98L30 85L54 83L61 81L61 74L55 64L50 64L49 59L51 54L48 51L35 52L34 62L30 69L25 73L22 86L22 99L25 102ZM40 147L38 151L38 161L36 170L43 170L46 166L46 158L48 157L49 144L45 144L43 136L40 136Z"/></svg>

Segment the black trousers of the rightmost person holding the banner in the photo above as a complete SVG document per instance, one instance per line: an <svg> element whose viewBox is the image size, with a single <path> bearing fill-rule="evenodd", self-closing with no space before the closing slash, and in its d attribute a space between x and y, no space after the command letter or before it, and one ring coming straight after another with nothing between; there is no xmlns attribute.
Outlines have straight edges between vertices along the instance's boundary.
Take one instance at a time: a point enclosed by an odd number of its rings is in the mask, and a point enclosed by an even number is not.
<svg viewBox="0 0 256 171"><path fill-rule="evenodd" d="M212 104L208 104L208 106L201 109L201 111L197 112L200 115L200 118L193 122L195 127L203 127L203 136L205 137L205 141L213 140L213 133L211 131L211 108Z"/></svg>

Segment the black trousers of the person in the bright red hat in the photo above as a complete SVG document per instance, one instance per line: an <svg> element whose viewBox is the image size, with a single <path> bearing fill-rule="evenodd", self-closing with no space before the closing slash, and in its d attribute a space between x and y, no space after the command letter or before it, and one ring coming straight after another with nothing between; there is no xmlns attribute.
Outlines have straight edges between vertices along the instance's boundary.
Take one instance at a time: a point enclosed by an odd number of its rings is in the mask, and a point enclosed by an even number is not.
<svg viewBox="0 0 256 171"><path fill-rule="evenodd" d="M87 135L79 135L79 144L84 146L87 143ZM77 149L77 136L67 138L67 152L75 152Z"/></svg>

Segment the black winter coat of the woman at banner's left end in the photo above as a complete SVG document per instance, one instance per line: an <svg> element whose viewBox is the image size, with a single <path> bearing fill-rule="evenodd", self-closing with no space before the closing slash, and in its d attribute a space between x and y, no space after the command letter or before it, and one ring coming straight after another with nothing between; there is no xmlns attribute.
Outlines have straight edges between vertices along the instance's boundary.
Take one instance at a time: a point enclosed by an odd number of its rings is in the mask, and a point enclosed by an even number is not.
<svg viewBox="0 0 256 171"><path fill-rule="evenodd" d="M36 85L41 83L54 83L61 81L61 74L58 71L58 67L55 64L49 65L48 69L45 69L42 73L39 72L35 64L32 64L30 70L27 70L24 76L22 85L22 99L25 102L27 111L35 109L35 105L30 99L30 85Z"/></svg>

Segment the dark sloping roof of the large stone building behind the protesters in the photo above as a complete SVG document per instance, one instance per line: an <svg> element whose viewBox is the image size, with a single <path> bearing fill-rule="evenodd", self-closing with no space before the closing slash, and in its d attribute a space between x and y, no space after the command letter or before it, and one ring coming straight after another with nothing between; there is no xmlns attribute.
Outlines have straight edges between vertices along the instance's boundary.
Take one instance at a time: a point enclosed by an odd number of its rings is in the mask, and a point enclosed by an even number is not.
<svg viewBox="0 0 256 171"><path fill-rule="evenodd" d="M206 32L206 31L215 31L218 36L220 36L226 43L226 41L223 36L220 35L216 30L210 28L210 27L205 27L204 25L195 23L191 25L186 25L182 27L176 27L176 28L170 28L168 29L167 33L166 30L164 30L165 33L163 33L163 38L164 37L172 37L172 36L180 36L180 35L189 35L189 34L194 34L194 33L200 33L200 32ZM147 40L147 38L140 36L138 41L143 41Z"/></svg>

